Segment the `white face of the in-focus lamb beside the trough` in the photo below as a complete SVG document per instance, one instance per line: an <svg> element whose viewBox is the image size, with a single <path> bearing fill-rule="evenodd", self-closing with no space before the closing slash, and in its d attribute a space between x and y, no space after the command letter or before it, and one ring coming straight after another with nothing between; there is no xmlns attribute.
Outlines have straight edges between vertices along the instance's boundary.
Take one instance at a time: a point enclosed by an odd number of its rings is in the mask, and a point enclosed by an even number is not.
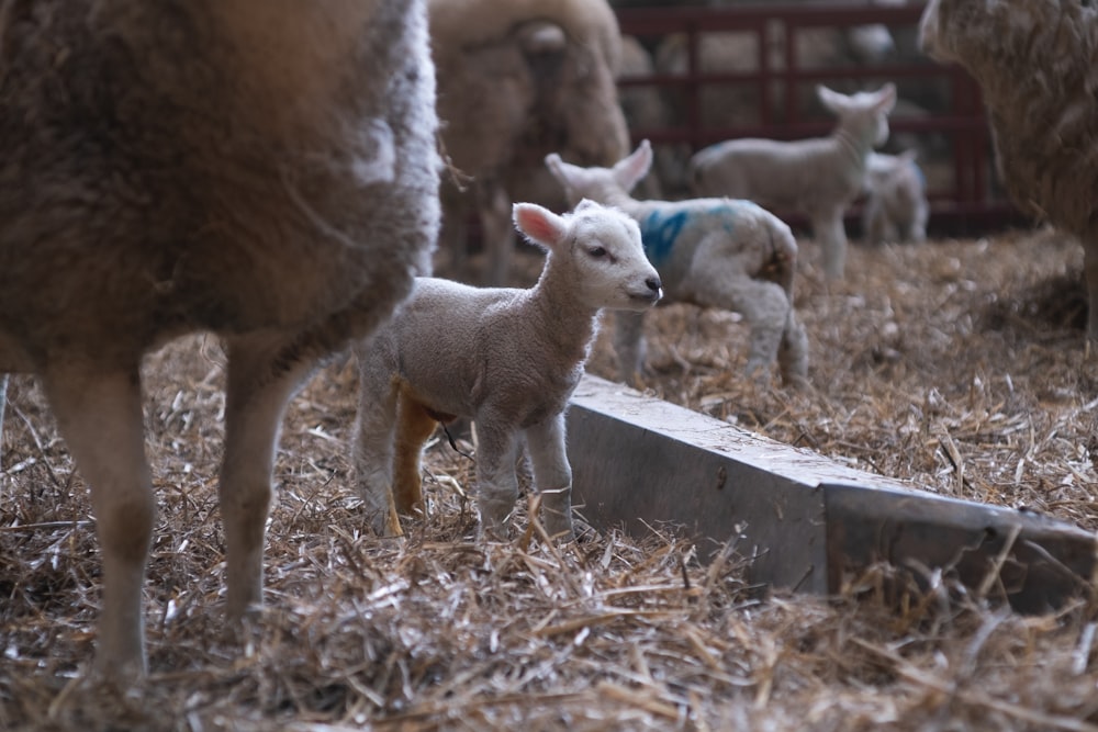
<svg viewBox="0 0 1098 732"><path fill-rule="evenodd" d="M663 295L660 274L645 256L640 227L629 216L582 203L572 217L571 238L576 295L584 304L643 311Z"/></svg>

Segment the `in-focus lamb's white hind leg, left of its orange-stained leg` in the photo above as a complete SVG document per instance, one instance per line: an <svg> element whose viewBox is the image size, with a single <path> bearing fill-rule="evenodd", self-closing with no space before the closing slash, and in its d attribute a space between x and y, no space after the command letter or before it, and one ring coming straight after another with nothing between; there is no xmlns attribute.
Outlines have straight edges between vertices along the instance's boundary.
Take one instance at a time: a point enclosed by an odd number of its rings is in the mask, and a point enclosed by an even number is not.
<svg viewBox="0 0 1098 732"><path fill-rule="evenodd" d="M393 430L396 424L397 383L389 372L370 362L369 344L358 356L358 416L352 440L355 481L366 518L379 537L400 537L401 520L393 500Z"/></svg>

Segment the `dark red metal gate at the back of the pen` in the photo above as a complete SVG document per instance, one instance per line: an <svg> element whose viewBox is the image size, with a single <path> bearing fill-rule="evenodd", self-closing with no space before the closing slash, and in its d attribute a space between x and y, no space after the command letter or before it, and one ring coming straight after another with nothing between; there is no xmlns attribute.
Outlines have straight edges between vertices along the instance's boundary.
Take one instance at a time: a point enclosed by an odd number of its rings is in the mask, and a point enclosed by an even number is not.
<svg viewBox="0 0 1098 732"><path fill-rule="evenodd" d="M928 179L931 202L930 228L934 235L978 235L1024 222L995 184L990 134L979 88L960 67L941 66L917 53L873 65L807 68L797 57L797 38L811 29L847 30L881 23L895 37L915 37L920 5L901 8L820 7L760 4L739 8L648 8L617 11L621 32L639 38L648 48L674 34L685 42L687 66L682 74L656 72L624 77L623 91L651 87L661 95L675 94L680 120L662 127L631 129L635 142L649 138L654 145L685 144L697 150L731 137L793 139L827 134L833 122L813 117L802 109L798 93L806 85L837 83L877 88L894 81L905 89L933 86L946 89L943 103L927 114L908 115L897 110L889 120L893 135L946 140L946 174ZM703 34L735 31L753 34L757 68L750 71L704 70L699 63ZM914 45L914 42L909 43ZM778 63L774 63L774 59ZM738 85L750 88L758 99L753 123L707 126L703 120L702 90ZM778 93L781 92L781 93Z"/></svg>

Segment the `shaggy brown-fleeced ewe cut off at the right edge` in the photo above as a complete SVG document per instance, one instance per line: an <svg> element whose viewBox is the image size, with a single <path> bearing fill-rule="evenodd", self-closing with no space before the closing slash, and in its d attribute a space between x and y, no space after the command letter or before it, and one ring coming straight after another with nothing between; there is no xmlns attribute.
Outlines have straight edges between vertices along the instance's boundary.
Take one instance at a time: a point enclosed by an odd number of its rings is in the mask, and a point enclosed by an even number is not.
<svg viewBox="0 0 1098 732"><path fill-rule="evenodd" d="M1098 8L1080 0L931 0L919 44L976 79L1015 203L1082 241L1087 341L1098 341Z"/></svg>

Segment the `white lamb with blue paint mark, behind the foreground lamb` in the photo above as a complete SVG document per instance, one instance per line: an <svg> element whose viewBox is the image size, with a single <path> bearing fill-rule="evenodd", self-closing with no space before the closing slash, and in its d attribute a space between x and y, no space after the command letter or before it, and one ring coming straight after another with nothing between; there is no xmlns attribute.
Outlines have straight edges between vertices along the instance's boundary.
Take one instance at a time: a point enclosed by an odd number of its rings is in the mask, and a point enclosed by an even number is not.
<svg viewBox="0 0 1098 732"><path fill-rule="evenodd" d="M793 309L797 243L789 227L750 201L638 201L629 191L651 165L647 139L613 168L546 158L570 200L613 205L638 222L666 289L664 302L742 313L751 327L747 373L762 375L777 359L785 383L804 385L808 347ZM635 384L643 361L642 314L618 313L615 326L620 378Z"/></svg>

